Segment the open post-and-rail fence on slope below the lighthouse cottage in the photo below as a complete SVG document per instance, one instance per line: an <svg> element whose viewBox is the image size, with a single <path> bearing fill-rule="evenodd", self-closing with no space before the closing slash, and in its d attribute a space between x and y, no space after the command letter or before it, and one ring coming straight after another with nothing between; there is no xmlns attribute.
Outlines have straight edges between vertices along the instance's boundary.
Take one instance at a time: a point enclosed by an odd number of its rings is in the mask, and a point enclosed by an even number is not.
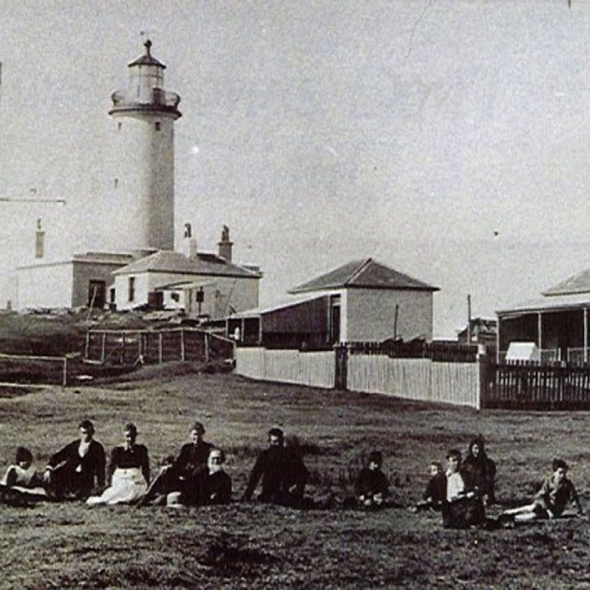
<svg viewBox="0 0 590 590"><path fill-rule="evenodd" d="M84 358L112 365L162 363L171 360L208 362L233 356L231 340L206 330L90 330Z"/></svg>

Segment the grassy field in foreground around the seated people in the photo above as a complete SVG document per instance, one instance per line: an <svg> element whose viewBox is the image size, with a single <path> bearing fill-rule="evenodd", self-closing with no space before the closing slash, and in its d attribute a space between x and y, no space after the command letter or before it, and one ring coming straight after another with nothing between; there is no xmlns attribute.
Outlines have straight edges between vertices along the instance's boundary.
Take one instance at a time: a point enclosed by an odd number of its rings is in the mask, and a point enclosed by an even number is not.
<svg viewBox="0 0 590 590"><path fill-rule="evenodd" d="M316 500L352 491L360 460L380 448L394 500L381 512L229 507L0 506L1 588L572 588L590 587L590 528L563 519L496 531L442 529L411 514L432 458L476 434L498 464L498 500L530 498L562 456L590 501L590 414L476 412L377 395L254 383L234 375L145 368L133 381L0 399L0 467L17 444L38 466L93 419L107 452L139 427L152 464L178 452L194 419L228 453L237 500L266 431L297 435ZM495 509L498 513L500 508Z"/></svg>

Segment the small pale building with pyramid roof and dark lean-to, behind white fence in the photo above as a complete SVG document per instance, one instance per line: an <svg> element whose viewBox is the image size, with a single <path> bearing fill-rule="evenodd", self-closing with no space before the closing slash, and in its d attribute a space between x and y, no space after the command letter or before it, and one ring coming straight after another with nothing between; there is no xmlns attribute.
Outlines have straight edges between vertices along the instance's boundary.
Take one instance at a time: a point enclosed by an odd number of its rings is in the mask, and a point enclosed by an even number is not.
<svg viewBox="0 0 590 590"><path fill-rule="evenodd" d="M432 340L432 287L372 258L293 287L289 300L228 319L244 343L322 348L337 342Z"/></svg>

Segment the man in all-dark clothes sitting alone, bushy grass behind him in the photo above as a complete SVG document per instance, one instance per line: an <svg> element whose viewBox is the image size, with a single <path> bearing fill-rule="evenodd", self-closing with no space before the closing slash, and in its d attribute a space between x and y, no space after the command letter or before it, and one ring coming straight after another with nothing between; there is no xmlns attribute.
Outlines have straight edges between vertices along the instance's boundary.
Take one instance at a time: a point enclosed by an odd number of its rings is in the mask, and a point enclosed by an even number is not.
<svg viewBox="0 0 590 590"><path fill-rule="evenodd" d="M242 499L251 500L262 478L262 491L258 500L297 507L303 500L308 477L309 471L299 454L284 447L283 431L271 428L268 431L268 448L258 455Z"/></svg>

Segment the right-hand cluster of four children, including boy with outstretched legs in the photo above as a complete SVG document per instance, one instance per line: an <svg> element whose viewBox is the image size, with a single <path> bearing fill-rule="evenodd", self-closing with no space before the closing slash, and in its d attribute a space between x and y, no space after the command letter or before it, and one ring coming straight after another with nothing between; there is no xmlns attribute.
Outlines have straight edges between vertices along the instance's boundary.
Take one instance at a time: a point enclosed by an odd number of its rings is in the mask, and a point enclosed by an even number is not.
<svg viewBox="0 0 590 590"><path fill-rule="evenodd" d="M486 506L496 502L496 464L487 456L481 436L471 441L464 461L461 461L461 451L452 449L447 453L446 472L437 461L430 464L429 471L424 498L411 510L440 511L445 528L510 527L518 522L552 519L561 516L569 504L575 506L578 514L585 513L567 476L568 464L554 459L552 474L543 481L532 503L504 510L494 520L486 519Z"/></svg>

